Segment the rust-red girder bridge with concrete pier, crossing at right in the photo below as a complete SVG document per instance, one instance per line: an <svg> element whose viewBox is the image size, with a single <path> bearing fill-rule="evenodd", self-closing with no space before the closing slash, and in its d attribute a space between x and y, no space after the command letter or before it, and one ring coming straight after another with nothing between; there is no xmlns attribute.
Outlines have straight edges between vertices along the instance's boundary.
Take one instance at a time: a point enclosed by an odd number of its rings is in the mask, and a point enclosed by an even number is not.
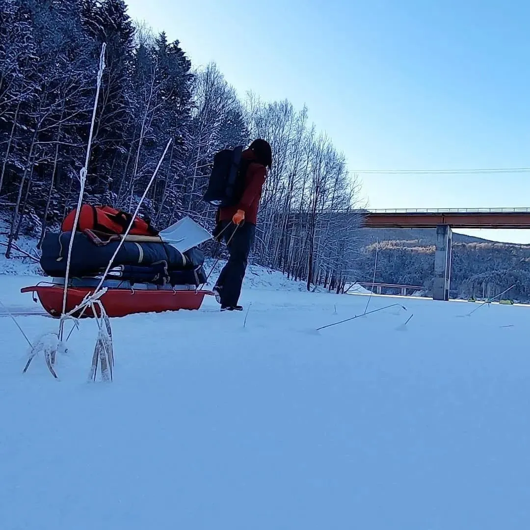
<svg viewBox="0 0 530 530"><path fill-rule="evenodd" d="M530 208L393 209L363 213L367 228L436 228L435 300L449 299L453 228L530 228ZM371 285L371 284L370 284Z"/></svg>

